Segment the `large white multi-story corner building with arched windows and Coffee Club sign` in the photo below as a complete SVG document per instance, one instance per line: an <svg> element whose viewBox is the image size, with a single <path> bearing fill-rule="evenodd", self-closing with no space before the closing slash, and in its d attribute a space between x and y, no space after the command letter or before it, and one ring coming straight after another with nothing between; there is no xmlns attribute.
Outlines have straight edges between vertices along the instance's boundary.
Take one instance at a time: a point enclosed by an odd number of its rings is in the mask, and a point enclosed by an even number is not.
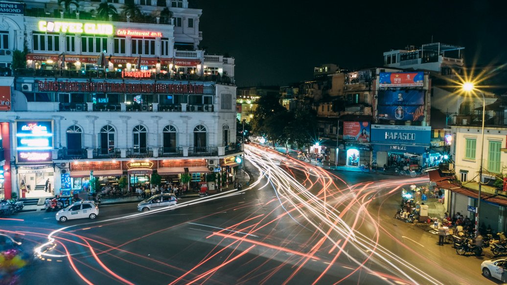
<svg viewBox="0 0 507 285"><path fill-rule="evenodd" d="M191 187L209 172L234 179L234 59L198 49L201 10L187 0L134 0L147 15L121 13L122 0L107 2L118 14L105 3L25 3L0 18L14 55L2 80L12 97L4 149L15 157L6 196L22 183L28 196L67 194L91 175L130 186L154 172L167 182L188 173Z"/></svg>

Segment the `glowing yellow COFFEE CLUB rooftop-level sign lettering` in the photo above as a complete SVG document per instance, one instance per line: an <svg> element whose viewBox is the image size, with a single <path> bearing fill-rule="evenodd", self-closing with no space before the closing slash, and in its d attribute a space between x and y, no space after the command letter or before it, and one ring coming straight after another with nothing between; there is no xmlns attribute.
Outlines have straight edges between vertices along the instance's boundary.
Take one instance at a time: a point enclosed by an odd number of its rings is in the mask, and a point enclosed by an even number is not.
<svg viewBox="0 0 507 285"><path fill-rule="evenodd" d="M95 24L95 23L39 21L39 31L110 35L113 34L113 25Z"/></svg>

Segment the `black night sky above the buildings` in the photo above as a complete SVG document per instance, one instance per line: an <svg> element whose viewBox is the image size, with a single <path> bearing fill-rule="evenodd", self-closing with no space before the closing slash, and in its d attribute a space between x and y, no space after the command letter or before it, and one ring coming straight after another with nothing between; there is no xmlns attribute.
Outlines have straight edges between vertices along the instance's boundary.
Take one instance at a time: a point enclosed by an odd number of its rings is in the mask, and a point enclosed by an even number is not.
<svg viewBox="0 0 507 285"><path fill-rule="evenodd" d="M322 63L351 70L378 66L384 51L428 44L431 36L434 43L464 46L467 65L507 61L507 17L499 1L191 3L203 10L201 47L236 59L239 87L311 79Z"/></svg>

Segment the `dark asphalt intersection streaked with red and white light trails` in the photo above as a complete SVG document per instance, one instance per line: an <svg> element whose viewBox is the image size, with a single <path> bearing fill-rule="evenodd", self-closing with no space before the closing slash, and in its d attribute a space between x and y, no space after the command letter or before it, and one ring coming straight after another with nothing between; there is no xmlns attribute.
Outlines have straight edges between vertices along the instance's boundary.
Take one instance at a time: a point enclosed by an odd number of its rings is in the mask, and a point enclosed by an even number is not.
<svg viewBox="0 0 507 285"><path fill-rule="evenodd" d="M400 187L427 178L332 174L253 146L254 183L157 212L103 206L97 220L54 213L0 220L41 259L25 284L485 284L484 257L457 256L392 218ZM56 279L55 279L56 278Z"/></svg>

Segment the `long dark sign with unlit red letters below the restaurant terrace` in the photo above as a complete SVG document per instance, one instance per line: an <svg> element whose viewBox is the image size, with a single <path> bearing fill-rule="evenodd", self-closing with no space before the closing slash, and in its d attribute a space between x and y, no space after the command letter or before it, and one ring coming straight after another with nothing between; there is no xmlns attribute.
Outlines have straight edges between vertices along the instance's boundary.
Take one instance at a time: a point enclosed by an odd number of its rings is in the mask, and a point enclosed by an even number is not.
<svg viewBox="0 0 507 285"><path fill-rule="evenodd" d="M164 83L114 83L38 80L39 91L202 94L203 85Z"/></svg>

